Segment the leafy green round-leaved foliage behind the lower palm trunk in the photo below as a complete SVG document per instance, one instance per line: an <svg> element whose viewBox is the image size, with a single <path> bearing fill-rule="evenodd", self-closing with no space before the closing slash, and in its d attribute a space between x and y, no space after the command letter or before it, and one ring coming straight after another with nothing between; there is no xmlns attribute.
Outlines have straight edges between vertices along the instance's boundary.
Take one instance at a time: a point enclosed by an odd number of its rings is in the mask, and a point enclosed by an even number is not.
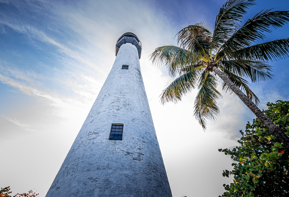
<svg viewBox="0 0 289 197"><path fill-rule="evenodd" d="M289 101L267 103L263 111L286 135L289 135ZM219 149L235 161L232 171L223 176L234 176L234 183L225 185L228 197L281 197L289 196L289 151L258 119L247 124L240 146Z"/></svg>

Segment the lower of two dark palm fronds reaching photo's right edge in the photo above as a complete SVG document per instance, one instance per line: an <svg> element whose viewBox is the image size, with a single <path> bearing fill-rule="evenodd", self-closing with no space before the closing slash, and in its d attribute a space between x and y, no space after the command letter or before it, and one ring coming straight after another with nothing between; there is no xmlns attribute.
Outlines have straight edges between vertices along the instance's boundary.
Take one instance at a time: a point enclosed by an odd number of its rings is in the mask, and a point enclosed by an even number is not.
<svg viewBox="0 0 289 197"><path fill-rule="evenodd" d="M256 44L229 54L236 60L268 61L289 56L289 38Z"/></svg>

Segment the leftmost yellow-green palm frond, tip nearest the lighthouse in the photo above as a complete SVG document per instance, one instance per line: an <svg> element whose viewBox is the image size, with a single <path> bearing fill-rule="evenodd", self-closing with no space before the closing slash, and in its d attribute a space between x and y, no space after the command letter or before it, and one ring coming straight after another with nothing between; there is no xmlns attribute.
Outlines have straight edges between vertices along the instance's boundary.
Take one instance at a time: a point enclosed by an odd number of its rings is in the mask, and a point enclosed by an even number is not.
<svg viewBox="0 0 289 197"><path fill-rule="evenodd" d="M198 60L196 55L176 46L156 48L150 58L153 64L165 64L171 77L180 74L182 68L193 65Z"/></svg>

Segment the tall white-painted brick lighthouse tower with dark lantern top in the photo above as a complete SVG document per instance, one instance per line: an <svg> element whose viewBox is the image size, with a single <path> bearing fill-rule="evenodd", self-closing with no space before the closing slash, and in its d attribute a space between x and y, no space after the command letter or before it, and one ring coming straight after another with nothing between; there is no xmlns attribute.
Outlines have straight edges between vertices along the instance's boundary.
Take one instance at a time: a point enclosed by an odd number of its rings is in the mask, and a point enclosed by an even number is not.
<svg viewBox="0 0 289 197"><path fill-rule="evenodd" d="M172 196L130 32L69 150L49 196Z"/></svg>

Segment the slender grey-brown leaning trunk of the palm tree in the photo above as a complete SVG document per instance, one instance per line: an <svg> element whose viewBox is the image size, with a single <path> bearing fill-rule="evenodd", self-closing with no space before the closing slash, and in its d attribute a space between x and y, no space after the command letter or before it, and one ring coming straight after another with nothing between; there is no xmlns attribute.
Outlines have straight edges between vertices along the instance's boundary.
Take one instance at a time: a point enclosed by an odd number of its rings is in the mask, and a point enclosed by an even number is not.
<svg viewBox="0 0 289 197"><path fill-rule="evenodd" d="M246 96L237 86L232 83L232 81L221 71L219 70L216 66L213 66L212 70L214 73L216 73L223 81L226 83L227 86L239 98L251 109L251 111L261 120L261 122L267 127L273 135L280 141L285 144L285 146L289 149L289 137L281 131L279 127L277 127L252 101L249 99L248 96Z"/></svg>

